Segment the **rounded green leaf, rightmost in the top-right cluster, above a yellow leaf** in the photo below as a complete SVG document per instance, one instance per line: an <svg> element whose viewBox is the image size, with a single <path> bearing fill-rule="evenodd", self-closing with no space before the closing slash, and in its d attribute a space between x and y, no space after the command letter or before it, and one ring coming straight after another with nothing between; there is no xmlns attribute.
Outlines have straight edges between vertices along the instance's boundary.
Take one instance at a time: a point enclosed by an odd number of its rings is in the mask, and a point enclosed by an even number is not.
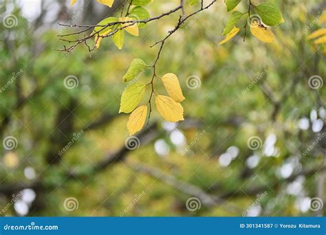
<svg viewBox="0 0 326 235"><path fill-rule="evenodd" d="M261 3L257 5L256 10L266 25L274 26L282 22L282 14L274 3Z"/></svg>

